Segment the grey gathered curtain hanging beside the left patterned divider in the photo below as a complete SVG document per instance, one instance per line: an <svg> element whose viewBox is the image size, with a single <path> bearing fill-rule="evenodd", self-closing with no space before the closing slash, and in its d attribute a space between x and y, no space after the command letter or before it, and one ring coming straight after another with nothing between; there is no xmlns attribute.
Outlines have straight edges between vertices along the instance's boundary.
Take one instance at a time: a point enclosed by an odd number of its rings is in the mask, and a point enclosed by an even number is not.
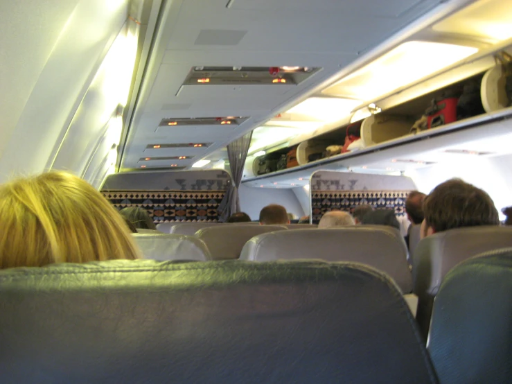
<svg viewBox="0 0 512 384"><path fill-rule="evenodd" d="M220 221L225 222L233 213L240 212L238 187L242 182L245 159L247 159L251 139L252 132L249 132L232 143L229 143L227 146L227 157L229 159L229 168L233 180L229 185L226 195L224 195L224 199L220 203Z"/></svg>

